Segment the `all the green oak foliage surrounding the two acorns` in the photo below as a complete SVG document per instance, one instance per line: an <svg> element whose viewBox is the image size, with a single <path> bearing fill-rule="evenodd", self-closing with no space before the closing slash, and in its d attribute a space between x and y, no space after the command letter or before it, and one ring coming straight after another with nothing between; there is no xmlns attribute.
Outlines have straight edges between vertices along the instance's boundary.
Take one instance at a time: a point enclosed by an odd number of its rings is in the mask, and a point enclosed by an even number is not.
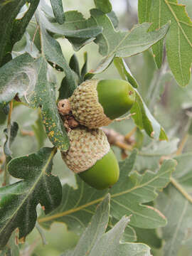
<svg viewBox="0 0 192 256"><path fill-rule="evenodd" d="M192 6L139 0L125 30L113 1L84 6L88 18L70 4L0 3L0 255L38 254L36 228L45 242L55 222L80 238L52 255L191 255ZM97 191L56 154L70 147L57 102L109 76L136 100L132 119L110 124L119 181Z"/></svg>

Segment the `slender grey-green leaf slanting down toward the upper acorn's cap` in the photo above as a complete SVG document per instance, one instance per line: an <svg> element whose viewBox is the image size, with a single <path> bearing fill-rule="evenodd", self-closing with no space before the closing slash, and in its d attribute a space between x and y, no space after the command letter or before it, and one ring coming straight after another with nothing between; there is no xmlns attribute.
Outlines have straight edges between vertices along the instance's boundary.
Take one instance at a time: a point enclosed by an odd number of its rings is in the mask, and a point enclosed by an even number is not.
<svg viewBox="0 0 192 256"><path fill-rule="evenodd" d="M65 60L58 41L52 38L44 28L44 24L41 20L41 12L41 9L36 11L36 18L41 29L42 52L45 55L46 60L63 68L66 79L68 80L68 87L66 88L66 91L68 92L68 97L70 97L76 87L73 70L70 69L67 61Z"/></svg>

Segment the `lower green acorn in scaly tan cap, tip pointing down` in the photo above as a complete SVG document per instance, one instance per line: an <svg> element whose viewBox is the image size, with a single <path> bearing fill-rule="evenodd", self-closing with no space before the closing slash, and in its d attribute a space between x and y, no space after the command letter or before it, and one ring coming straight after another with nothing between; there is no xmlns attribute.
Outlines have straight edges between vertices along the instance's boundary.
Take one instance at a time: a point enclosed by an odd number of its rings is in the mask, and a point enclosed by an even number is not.
<svg viewBox="0 0 192 256"><path fill-rule="evenodd" d="M101 129L77 127L68 132L70 149L61 151L68 168L97 189L110 188L119 179L119 165Z"/></svg>

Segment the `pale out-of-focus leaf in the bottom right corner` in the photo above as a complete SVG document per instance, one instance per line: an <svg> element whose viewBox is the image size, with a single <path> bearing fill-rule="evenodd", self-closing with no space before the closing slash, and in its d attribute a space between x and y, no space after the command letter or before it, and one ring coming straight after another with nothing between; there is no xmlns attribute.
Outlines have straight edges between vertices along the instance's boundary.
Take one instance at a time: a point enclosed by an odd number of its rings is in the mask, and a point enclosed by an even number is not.
<svg viewBox="0 0 192 256"><path fill-rule="evenodd" d="M168 220L168 224L162 230L166 242L164 255L178 255L181 246L191 245L192 242L189 231L192 228L192 204L174 186L169 186L165 193L159 195L158 206Z"/></svg>

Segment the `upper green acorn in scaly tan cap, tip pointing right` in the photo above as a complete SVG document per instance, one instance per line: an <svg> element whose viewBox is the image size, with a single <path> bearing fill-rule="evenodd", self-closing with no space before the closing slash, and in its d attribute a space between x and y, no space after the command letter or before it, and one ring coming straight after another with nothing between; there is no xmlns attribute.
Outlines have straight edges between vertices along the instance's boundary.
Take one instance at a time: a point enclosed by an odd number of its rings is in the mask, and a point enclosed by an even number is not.
<svg viewBox="0 0 192 256"><path fill-rule="evenodd" d="M94 129L128 112L134 104L135 92L125 80L86 80L68 100L75 119Z"/></svg>

